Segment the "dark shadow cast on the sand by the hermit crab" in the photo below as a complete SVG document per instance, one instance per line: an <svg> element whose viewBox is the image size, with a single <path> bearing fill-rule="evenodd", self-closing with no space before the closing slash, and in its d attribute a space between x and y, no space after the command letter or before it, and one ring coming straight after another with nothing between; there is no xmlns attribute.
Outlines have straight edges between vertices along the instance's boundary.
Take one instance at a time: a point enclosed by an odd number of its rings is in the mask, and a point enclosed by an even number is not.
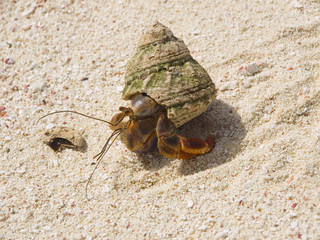
<svg viewBox="0 0 320 240"><path fill-rule="evenodd" d="M216 100L205 113L184 124L177 133L203 139L210 134L215 136L216 145L210 153L189 160L181 160L180 173L190 175L232 160L241 150L241 142L246 135L246 130L236 110L225 102ZM141 155L140 159L147 170L158 170L171 161L159 152L154 152L152 156Z"/></svg>

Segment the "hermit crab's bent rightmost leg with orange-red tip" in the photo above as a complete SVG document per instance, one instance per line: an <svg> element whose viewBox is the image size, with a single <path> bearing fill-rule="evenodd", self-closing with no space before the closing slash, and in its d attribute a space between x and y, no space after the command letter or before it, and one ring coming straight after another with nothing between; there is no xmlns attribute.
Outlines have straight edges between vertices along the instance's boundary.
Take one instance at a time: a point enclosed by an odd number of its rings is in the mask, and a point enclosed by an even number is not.
<svg viewBox="0 0 320 240"><path fill-rule="evenodd" d="M205 154L214 147L214 136L205 141L201 138L185 138L173 133L167 117L160 116L156 128L158 149L167 158L188 159Z"/></svg>

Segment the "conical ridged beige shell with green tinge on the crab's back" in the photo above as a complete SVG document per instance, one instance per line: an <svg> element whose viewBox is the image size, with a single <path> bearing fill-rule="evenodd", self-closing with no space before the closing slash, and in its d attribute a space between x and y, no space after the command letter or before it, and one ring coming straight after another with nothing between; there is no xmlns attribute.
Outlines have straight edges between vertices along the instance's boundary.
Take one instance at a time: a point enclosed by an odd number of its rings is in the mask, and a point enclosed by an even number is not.
<svg viewBox="0 0 320 240"><path fill-rule="evenodd" d="M206 111L216 97L209 74L192 58L185 43L159 22L140 37L125 80L123 99L147 94L167 108L176 127Z"/></svg>

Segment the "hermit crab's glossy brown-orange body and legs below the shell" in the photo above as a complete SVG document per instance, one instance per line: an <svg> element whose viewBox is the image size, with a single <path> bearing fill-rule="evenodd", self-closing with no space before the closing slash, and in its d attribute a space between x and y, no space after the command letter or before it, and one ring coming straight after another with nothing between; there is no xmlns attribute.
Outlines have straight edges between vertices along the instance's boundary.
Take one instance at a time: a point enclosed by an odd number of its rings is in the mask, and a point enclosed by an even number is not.
<svg viewBox="0 0 320 240"><path fill-rule="evenodd" d="M165 107L146 95L137 95L130 108L119 110L111 119L111 129L120 129L129 123L122 132L122 140L130 151L148 153L158 147L167 158L187 159L204 154L214 146L213 136L204 141L175 134Z"/></svg>

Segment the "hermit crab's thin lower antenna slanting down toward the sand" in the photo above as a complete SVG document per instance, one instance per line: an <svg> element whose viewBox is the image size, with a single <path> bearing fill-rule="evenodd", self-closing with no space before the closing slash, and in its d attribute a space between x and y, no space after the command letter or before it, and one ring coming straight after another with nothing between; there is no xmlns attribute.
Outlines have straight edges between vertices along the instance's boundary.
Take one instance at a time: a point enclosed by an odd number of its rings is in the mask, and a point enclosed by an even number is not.
<svg viewBox="0 0 320 240"><path fill-rule="evenodd" d="M122 128L119 128L119 129L116 129L113 131L113 133L111 134L111 136L108 138L107 142L104 144L102 150L96 155L93 157L93 159L97 158L97 164L95 165L92 173L90 174L90 177L87 181L87 184L86 184L86 198L90 201L91 198L88 197L88 186L89 186L89 183L92 179L92 176L94 174L94 172L96 171L96 169L98 168L99 164L101 163L101 160L103 159L104 155L108 152L108 150L110 149L110 147L112 146L112 144L114 143L114 141L119 137L119 135L130 125L130 120L122 127ZM111 139L114 137L114 139L111 141ZM109 142L111 141L111 143L109 144Z"/></svg>

